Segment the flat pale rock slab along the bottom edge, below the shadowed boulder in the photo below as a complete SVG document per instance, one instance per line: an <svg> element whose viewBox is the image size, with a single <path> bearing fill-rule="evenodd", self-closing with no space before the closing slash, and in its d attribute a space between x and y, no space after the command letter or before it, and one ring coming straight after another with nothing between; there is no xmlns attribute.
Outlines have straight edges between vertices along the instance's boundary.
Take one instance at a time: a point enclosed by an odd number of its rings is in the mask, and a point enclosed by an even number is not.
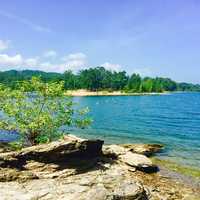
<svg viewBox="0 0 200 200"><path fill-rule="evenodd" d="M148 199L143 185L118 165L112 165L107 170L91 170L67 178L4 182L0 183L0 193L2 200Z"/></svg>

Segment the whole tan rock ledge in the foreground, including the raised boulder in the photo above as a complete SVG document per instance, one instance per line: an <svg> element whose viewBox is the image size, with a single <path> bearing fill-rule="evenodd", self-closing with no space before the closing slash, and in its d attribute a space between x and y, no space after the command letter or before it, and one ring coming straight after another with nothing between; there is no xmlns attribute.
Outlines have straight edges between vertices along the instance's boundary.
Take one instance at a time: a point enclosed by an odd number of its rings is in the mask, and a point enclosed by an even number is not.
<svg viewBox="0 0 200 200"><path fill-rule="evenodd" d="M130 145L102 146L101 140L67 136L62 141L0 153L0 199L176 199L175 192L163 194L146 182L152 177L146 172L157 167L145 155L132 151Z"/></svg>

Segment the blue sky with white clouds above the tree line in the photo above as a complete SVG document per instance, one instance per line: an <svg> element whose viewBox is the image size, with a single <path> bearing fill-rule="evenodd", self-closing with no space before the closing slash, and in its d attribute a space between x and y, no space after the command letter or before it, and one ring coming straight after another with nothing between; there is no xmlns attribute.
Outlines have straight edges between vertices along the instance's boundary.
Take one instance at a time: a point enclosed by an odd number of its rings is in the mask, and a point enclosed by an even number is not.
<svg viewBox="0 0 200 200"><path fill-rule="evenodd" d="M200 1L0 0L0 71L95 66L200 83Z"/></svg>

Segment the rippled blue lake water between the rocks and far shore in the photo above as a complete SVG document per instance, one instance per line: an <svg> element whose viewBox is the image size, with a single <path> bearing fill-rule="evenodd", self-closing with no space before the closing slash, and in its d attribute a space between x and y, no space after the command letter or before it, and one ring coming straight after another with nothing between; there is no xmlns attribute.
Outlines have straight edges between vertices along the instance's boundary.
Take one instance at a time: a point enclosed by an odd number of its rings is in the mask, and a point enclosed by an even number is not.
<svg viewBox="0 0 200 200"><path fill-rule="evenodd" d="M159 157L200 168L200 93L158 96L75 97L88 106L94 122L88 129L68 130L106 143L161 143ZM0 140L15 134L1 133Z"/></svg>

